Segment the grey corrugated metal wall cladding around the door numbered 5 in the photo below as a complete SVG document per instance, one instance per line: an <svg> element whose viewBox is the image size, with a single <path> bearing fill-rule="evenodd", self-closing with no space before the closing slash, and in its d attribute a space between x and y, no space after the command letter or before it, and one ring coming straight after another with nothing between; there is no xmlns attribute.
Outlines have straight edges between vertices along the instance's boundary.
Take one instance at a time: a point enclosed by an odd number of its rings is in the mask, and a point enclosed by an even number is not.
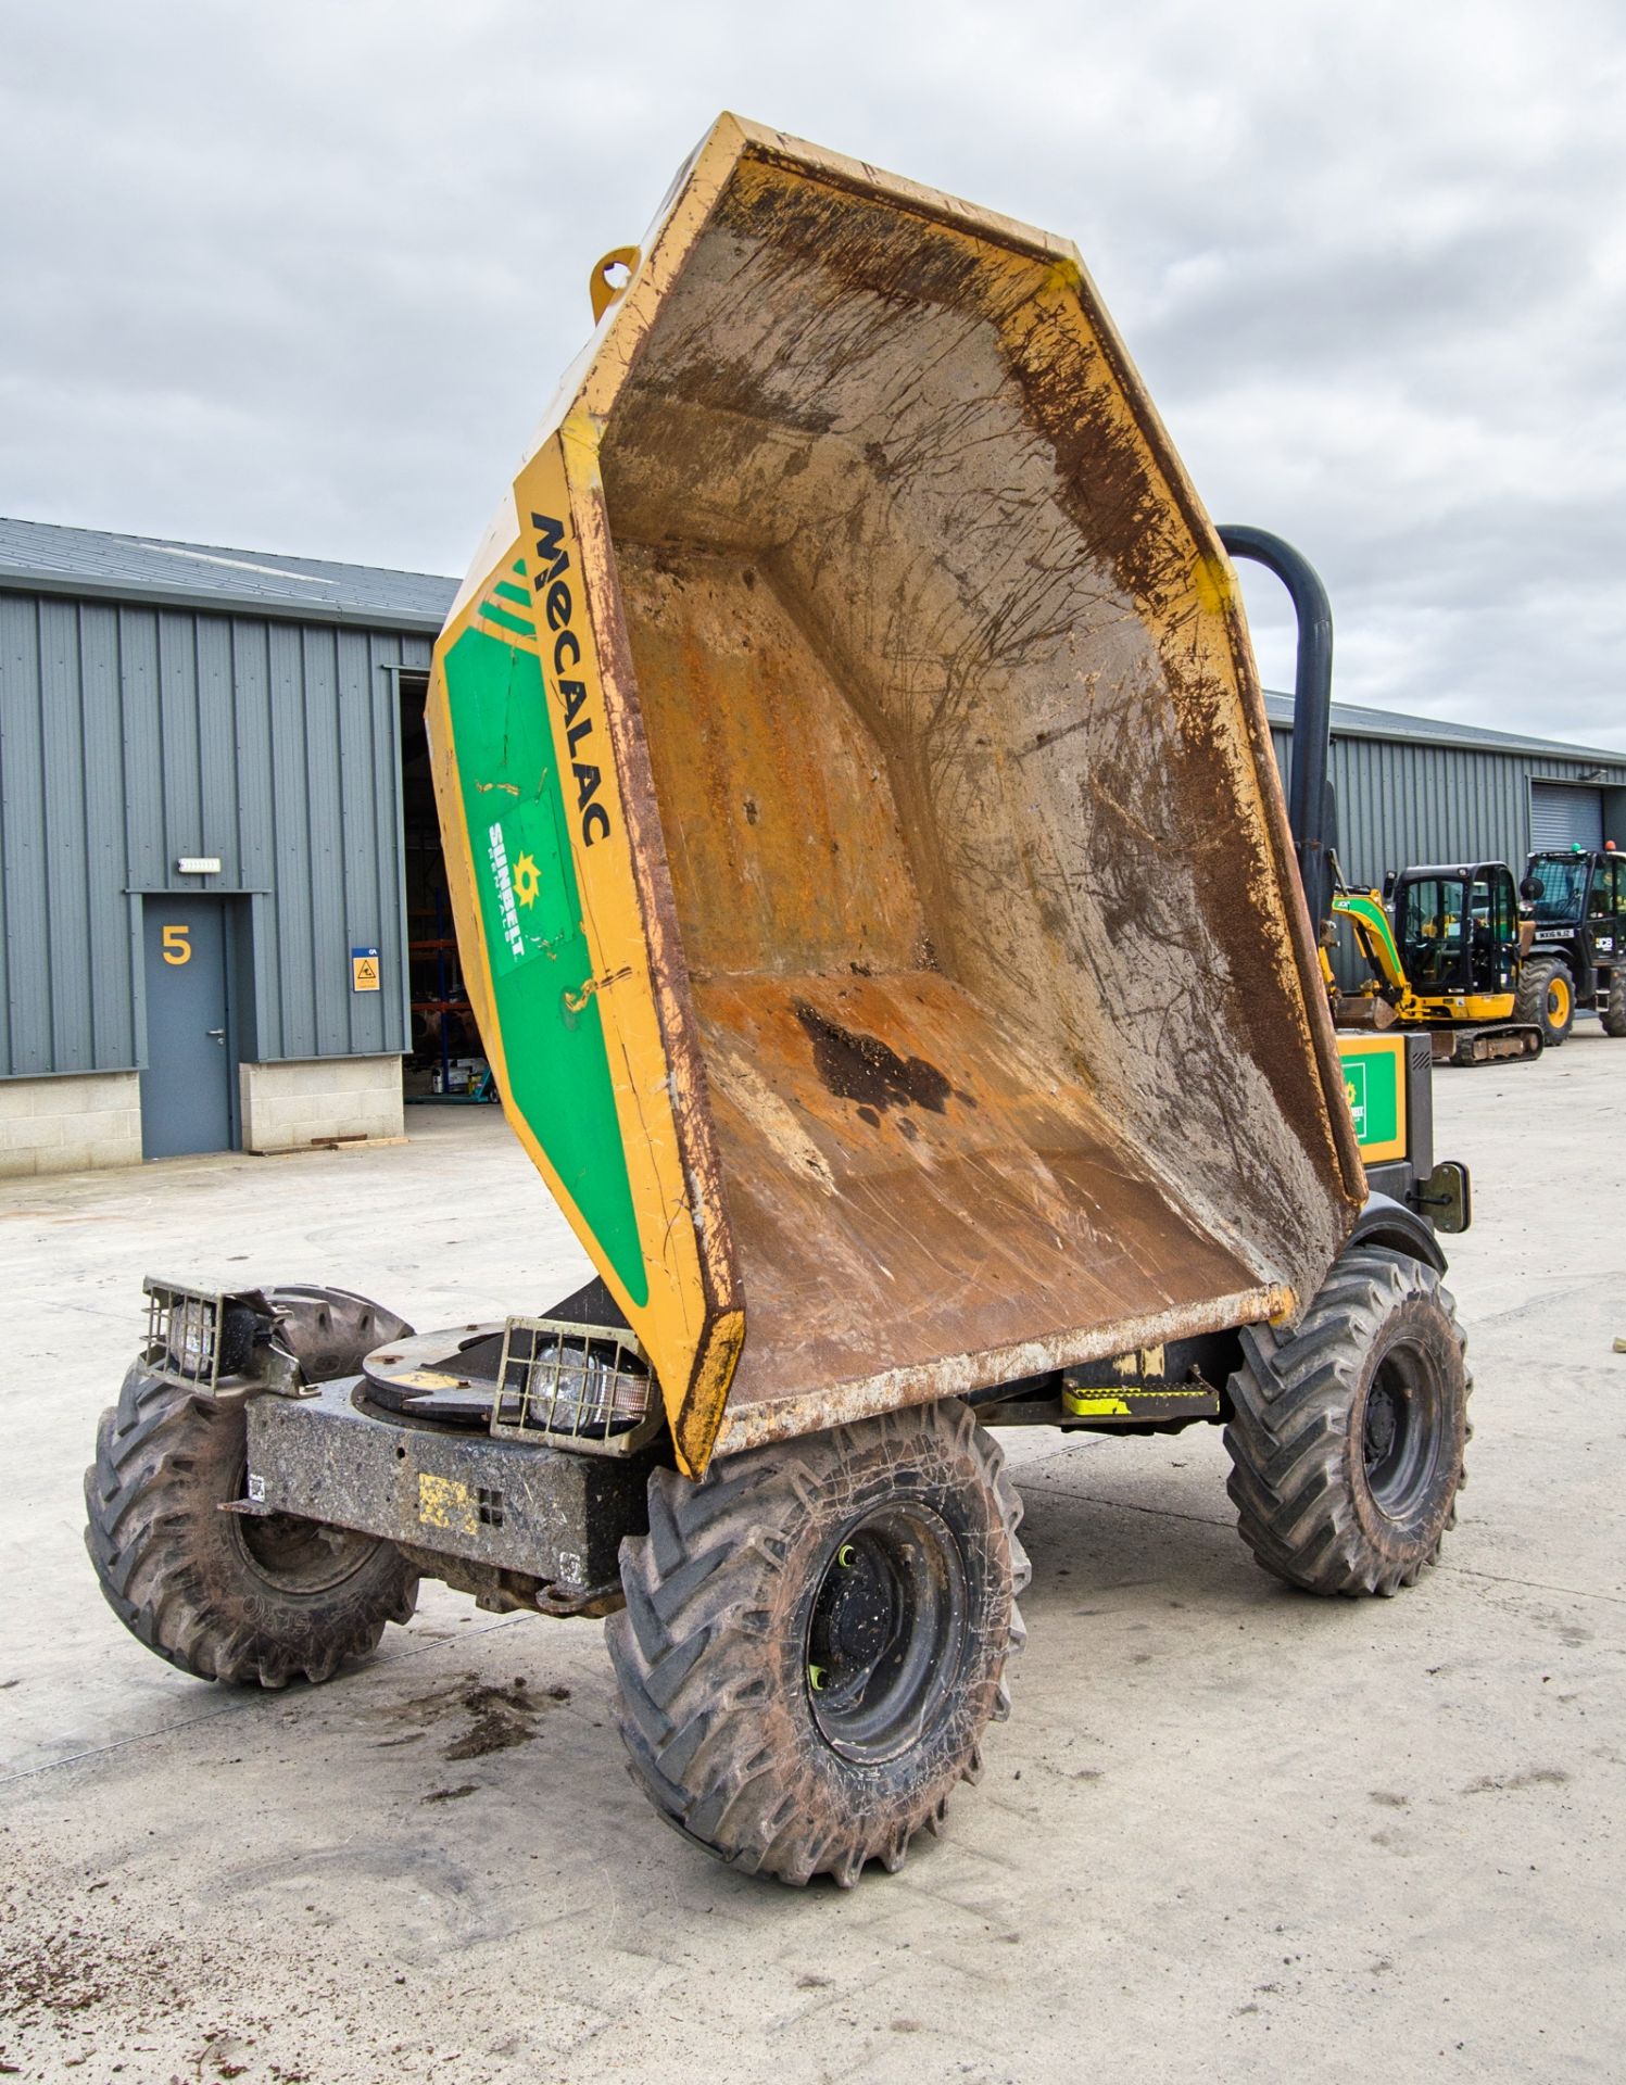
<svg viewBox="0 0 1626 2085"><path fill-rule="evenodd" d="M0 590L0 1076L140 1063L161 890L252 917L246 1059L404 1051L386 669L427 663L411 632ZM179 876L183 855L221 874ZM350 990L352 945L384 990Z"/></svg>

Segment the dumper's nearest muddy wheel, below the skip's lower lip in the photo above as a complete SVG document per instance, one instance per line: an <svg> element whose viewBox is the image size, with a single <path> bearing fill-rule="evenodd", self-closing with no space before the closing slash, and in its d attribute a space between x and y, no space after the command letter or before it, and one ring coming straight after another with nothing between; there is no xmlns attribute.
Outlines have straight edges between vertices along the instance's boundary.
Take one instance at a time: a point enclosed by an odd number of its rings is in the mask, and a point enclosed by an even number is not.
<svg viewBox="0 0 1626 2085"><path fill-rule="evenodd" d="M655 1808L753 1874L903 1866L982 1770L1024 1630L1003 1455L961 1403L657 1470L607 1624Z"/></svg>

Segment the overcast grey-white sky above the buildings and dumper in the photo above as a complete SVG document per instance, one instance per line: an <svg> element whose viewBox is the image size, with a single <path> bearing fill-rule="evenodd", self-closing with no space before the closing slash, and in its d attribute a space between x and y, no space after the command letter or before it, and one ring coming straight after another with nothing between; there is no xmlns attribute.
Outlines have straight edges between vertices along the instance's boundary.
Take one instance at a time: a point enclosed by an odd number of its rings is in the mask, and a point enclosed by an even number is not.
<svg viewBox="0 0 1626 2085"><path fill-rule="evenodd" d="M0 513L461 573L590 263L732 106L1074 238L1209 511L1326 578L1345 701L1626 746L1618 0L0 29Z"/></svg>

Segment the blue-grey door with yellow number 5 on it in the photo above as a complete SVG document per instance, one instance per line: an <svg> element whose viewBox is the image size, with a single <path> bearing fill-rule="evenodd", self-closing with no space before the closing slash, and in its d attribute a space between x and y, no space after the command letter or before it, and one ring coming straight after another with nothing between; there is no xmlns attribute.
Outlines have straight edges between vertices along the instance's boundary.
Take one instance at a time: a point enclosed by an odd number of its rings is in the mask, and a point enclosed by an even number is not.
<svg viewBox="0 0 1626 2085"><path fill-rule="evenodd" d="M229 1151L231 1047L227 907L223 899L148 897L146 1070L142 1153L173 1159L188 1151Z"/></svg>

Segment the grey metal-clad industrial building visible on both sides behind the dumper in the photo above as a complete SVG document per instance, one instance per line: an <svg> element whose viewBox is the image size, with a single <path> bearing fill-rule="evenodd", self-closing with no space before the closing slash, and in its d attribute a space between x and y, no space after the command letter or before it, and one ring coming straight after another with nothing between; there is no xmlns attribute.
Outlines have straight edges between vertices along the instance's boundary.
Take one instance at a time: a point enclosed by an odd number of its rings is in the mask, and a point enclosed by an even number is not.
<svg viewBox="0 0 1626 2085"><path fill-rule="evenodd" d="M477 1082L423 744L454 590L0 521L0 1174L400 1136ZM1626 753L1332 738L1351 882L1626 844Z"/></svg>

